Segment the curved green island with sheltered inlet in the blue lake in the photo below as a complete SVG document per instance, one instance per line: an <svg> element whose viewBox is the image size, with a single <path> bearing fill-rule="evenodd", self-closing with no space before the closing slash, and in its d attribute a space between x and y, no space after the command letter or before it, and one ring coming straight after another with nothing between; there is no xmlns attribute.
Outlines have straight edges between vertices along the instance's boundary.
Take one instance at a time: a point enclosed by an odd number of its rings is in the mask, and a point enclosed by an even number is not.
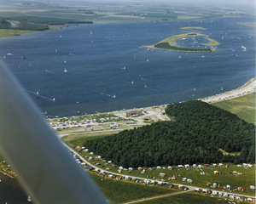
<svg viewBox="0 0 256 204"><path fill-rule="evenodd" d="M182 27L183 30L189 30L194 31L196 30L206 30L205 28L201 27ZM209 40L208 43L202 43L202 45L205 46L211 46L211 48L182 48L175 44L175 42L178 39L188 39L188 37L195 37L195 36L201 36ZM207 37L205 34L199 33L199 32L189 32L184 33L172 37L167 37L166 39L150 46L143 46L144 48L158 48L158 49L165 49L165 50L173 50L173 51L180 51L180 52L213 52L216 51L216 48L213 48L212 46L217 46L219 43L216 40L213 40L212 38Z"/></svg>

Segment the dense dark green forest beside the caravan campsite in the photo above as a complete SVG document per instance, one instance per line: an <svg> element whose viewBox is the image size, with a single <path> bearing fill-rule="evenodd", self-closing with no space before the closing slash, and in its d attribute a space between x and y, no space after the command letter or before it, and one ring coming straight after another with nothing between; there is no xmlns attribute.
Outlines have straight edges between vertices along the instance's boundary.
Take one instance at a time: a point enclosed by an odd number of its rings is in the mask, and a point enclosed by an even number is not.
<svg viewBox="0 0 256 204"><path fill-rule="evenodd" d="M255 162L253 124L196 100L168 105L166 114L176 121L93 139L84 147L123 167ZM241 155L224 156L219 149L241 151Z"/></svg>

